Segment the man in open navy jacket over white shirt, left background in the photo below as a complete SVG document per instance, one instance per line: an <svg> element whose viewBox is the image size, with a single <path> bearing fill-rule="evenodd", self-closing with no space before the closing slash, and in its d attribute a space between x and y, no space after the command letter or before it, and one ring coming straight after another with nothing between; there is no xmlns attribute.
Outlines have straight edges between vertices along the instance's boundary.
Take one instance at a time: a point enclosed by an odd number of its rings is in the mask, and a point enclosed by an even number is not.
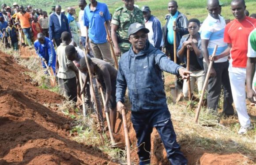
<svg viewBox="0 0 256 165"><path fill-rule="evenodd" d="M57 47L61 43L61 33L70 32L68 25L68 18L66 15L61 13L61 6L57 5L55 7L55 12L50 15L49 18L49 38L55 41Z"/></svg>

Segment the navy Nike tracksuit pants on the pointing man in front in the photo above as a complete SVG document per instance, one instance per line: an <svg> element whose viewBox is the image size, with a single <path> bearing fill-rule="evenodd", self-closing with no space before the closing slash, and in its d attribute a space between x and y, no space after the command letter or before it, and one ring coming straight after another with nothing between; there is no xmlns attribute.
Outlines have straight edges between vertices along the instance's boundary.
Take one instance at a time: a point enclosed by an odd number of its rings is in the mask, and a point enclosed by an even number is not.
<svg viewBox="0 0 256 165"><path fill-rule="evenodd" d="M176 141L173 123L168 109L132 112L132 124L138 139L139 165L150 164L151 132L155 127L162 139L167 158L172 165L186 165L187 159Z"/></svg>

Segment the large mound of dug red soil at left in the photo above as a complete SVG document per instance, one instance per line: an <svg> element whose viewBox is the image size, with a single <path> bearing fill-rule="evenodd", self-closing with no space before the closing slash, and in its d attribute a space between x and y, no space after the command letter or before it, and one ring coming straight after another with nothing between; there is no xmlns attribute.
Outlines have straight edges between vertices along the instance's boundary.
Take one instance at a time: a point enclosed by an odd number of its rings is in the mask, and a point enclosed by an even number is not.
<svg viewBox="0 0 256 165"><path fill-rule="evenodd" d="M0 52L0 165L108 164L101 151L70 139L72 120L43 105L63 97L30 84L26 71Z"/></svg>

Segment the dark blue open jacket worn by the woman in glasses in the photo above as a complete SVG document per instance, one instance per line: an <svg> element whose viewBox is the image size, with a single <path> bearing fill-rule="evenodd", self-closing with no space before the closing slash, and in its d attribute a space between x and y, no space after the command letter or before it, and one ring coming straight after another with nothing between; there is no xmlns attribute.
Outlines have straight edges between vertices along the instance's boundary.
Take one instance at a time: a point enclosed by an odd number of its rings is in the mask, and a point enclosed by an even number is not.
<svg viewBox="0 0 256 165"><path fill-rule="evenodd" d="M179 57L178 51L181 50L182 44L183 44L185 41L187 41L189 37L190 37L190 34L186 34L186 35L184 35L184 36L181 38L181 43L180 43L180 45L179 45L179 48L177 49L177 57ZM199 48L200 50L202 49L202 46L201 46L201 37L200 37L200 35L199 35L199 39L198 39L197 48ZM184 62L185 62L186 65L187 65L187 51L184 52L184 53L185 53L185 54L182 55L182 56L183 56ZM199 65L203 68L203 53L201 52L200 57L197 57L197 56L196 56L196 59L197 59L197 62L199 63Z"/></svg>

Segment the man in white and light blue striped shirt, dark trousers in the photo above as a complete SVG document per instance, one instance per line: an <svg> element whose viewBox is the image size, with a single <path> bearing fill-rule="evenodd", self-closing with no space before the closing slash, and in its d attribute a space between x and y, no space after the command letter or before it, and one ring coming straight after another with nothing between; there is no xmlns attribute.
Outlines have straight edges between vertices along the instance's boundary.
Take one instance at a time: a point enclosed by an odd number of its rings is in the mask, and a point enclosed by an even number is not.
<svg viewBox="0 0 256 165"><path fill-rule="evenodd" d="M225 19L219 15L219 1L208 0L208 17L204 20L201 28L201 44L203 52L203 67L207 72L209 66L209 55L212 55L215 45L218 45L216 56L226 50L227 44L224 42ZM221 86L224 89L223 114L230 116L234 114L232 106L233 98L230 87L228 72L228 57L216 60L211 68L211 77L208 81L207 108L217 113L218 100L221 94Z"/></svg>

